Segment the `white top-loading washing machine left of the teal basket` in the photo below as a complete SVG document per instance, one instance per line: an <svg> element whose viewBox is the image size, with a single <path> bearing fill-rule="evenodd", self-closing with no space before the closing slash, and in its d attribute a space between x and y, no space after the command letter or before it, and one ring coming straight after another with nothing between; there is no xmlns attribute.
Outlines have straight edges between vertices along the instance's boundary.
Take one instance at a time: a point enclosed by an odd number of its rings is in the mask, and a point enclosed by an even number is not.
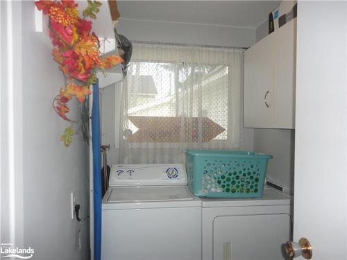
<svg viewBox="0 0 347 260"><path fill-rule="evenodd" d="M201 200L185 167L113 165L101 232L103 260L200 260Z"/></svg>

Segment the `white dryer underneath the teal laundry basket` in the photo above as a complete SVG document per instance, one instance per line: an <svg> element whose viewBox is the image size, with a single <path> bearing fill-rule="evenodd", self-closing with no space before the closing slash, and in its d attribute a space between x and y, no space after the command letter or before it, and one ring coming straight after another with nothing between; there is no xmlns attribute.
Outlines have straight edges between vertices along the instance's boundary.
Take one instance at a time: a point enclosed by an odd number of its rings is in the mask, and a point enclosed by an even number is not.
<svg viewBox="0 0 347 260"><path fill-rule="evenodd" d="M264 187L262 198L201 198L203 260L285 259L290 240L292 200Z"/></svg>

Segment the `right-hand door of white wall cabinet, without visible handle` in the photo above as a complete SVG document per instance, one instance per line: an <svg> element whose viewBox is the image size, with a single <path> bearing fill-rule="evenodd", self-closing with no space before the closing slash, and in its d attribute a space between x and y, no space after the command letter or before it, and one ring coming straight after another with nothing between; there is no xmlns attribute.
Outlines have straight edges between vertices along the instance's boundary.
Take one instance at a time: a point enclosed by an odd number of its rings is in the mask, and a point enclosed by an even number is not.
<svg viewBox="0 0 347 260"><path fill-rule="evenodd" d="M273 128L294 128L296 19L273 33Z"/></svg>

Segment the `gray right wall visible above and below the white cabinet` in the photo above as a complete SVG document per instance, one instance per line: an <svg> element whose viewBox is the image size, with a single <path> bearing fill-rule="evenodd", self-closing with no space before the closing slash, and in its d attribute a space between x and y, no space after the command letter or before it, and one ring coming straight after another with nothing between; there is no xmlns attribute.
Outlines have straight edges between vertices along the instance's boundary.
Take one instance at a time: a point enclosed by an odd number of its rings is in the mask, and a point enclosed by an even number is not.
<svg viewBox="0 0 347 260"><path fill-rule="evenodd" d="M269 20L264 21L256 30L259 42L268 35ZM255 129L254 150L273 155L267 168L267 177L273 182L294 191L294 130Z"/></svg>

